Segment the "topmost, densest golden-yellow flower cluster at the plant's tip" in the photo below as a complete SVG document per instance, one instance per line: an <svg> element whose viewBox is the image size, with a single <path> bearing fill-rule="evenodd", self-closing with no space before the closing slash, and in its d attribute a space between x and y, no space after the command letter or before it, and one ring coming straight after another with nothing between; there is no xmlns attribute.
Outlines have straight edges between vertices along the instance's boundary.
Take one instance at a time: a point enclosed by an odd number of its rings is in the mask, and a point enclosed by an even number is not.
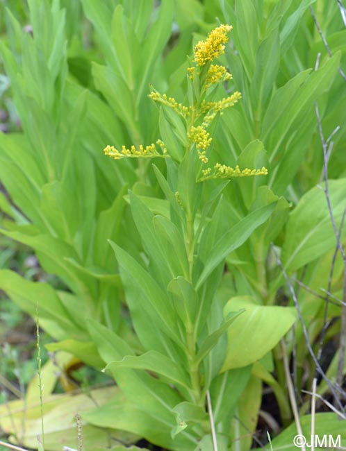
<svg viewBox="0 0 346 451"><path fill-rule="evenodd" d="M205 41L197 43L193 58L197 66L204 66L224 53L224 44L229 40L226 33L232 28L231 25L220 25L208 34Z"/></svg>

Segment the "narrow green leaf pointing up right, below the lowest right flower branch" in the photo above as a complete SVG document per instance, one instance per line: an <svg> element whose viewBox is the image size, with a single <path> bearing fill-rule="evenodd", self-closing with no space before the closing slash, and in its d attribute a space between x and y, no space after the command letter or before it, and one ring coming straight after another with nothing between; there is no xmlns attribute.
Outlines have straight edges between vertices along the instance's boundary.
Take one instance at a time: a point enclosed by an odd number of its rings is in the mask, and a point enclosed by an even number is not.
<svg viewBox="0 0 346 451"><path fill-rule="evenodd" d="M239 221L236 226L233 226L229 232L226 232L226 234L217 241L215 247L208 256L204 270L199 277L197 289L201 287L201 284L203 284L211 271L213 271L213 269L229 255L229 253L241 246L258 226L261 226L262 223L267 221L275 206L276 203L274 202L254 210L254 212L245 216L244 219Z"/></svg>

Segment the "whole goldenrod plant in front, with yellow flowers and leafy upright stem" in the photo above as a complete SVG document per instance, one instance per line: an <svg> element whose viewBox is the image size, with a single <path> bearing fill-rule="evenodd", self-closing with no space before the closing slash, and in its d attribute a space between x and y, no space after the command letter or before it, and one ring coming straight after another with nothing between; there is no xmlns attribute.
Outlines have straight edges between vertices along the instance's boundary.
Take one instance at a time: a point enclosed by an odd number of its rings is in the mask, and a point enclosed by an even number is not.
<svg viewBox="0 0 346 451"><path fill-rule="evenodd" d="M104 149L115 160L153 158L163 198L158 212L145 196L129 193L145 255L131 255L121 241L110 241L139 349L96 321L88 322L107 363L104 371L113 375L126 398L122 405L111 400L84 418L173 450L231 446L240 394L258 383L252 364L270 352L295 321L292 308L259 307L249 298L226 300L218 292L226 256L270 221L277 206L274 196L256 198L248 214L229 221L234 199L222 194L229 183L265 178L268 171L213 163L213 126L241 99L239 92L224 96L231 75L226 76L225 67L212 65L223 55L230 31L231 26L220 25L195 45L186 73L186 105L155 90L149 94L160 108L158 142L163 151L155 144L131 151L109 145ZM222 148L217 154L222 158L227 151ZM166 167L160 170L155 162L162 159ZM265 186L263 190L269 192ZM263 318L268 333L261 329L260 337L252 324ZM126 411L126 416L117 411Z"/></svg>

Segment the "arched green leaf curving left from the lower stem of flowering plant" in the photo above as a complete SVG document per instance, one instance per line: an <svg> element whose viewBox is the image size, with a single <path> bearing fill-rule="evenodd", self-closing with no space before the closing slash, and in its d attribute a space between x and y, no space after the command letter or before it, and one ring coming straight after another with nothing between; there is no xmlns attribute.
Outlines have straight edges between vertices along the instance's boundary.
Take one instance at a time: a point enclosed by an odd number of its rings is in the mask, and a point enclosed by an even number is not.
<svg viewBox="0 0 346 451"><path fill-rule="evenodd" d="M139 356L126 355L120 361L111 361L105 368L105 371L112 370L113 368L133 368L146 371L152 371L165 377L173 384L178 384L189 389L190 382L188 375L181 364L176 364L160 352L150 350L145 354Z"/></svg>

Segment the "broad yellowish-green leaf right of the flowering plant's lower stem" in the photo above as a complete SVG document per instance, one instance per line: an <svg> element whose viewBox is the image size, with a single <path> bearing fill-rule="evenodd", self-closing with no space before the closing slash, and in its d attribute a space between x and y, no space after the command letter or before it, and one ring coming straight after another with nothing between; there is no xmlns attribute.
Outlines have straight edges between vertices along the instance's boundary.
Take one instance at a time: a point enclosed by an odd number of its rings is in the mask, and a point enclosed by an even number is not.
<svg viewBox="0 0 346 451"><path fill-rule="evenodd" d="M296 320L295 308L257 305L249 296L229 300L224 314L244 308L228 330L222 371L241 368L261 359L277 345Z"/></svg>

